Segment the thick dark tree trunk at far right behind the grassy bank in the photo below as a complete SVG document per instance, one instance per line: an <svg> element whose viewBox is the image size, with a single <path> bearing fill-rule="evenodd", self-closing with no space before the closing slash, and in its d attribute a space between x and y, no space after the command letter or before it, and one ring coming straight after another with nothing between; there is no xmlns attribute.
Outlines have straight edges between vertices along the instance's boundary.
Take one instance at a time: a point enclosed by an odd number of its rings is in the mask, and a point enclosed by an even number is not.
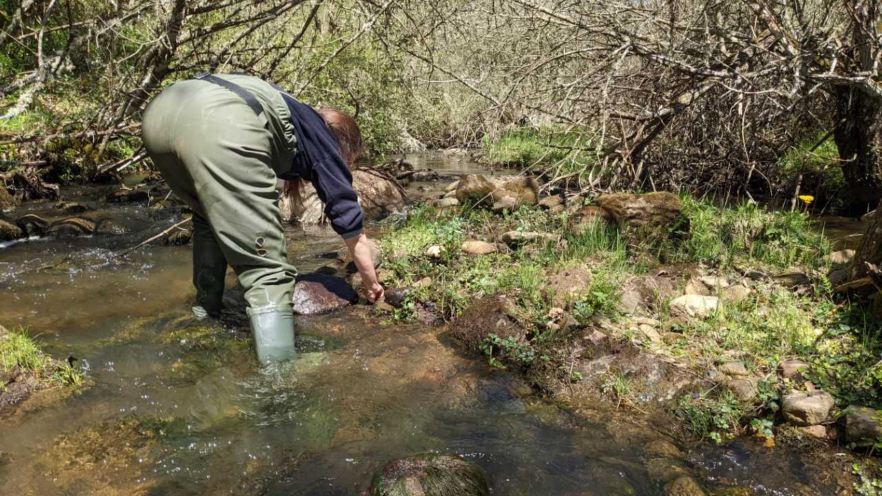
<svg viewBox="0 0 882 496"><path fill-rule="evenodd" d="M841 124L833 139L848 183L849 207L866 212L882 199L882 102L855 86L839 86L836 103Z"/></svg>

